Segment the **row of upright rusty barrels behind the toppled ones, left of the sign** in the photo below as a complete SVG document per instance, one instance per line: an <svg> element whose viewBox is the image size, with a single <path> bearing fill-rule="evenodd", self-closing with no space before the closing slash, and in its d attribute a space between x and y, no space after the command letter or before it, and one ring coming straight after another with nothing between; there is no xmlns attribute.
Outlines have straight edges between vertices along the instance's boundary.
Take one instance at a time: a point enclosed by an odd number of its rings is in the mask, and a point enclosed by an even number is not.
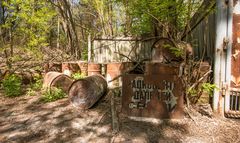
<svg viewBox="0 0 240 143"><path fill-rule="evenodd" d="M44 69L45 73L49 71L62 72L65 75L71 76L73 73L82 73L85 76L102 75L107 79L107 82L112 81L119 75L129 71L134 66L132 62L115 62L108 64L87 63L83 61L49 63ZM55 68L54 68L55 67ZM61 69L60 69L61 67ZM121 77L109 82L109 87L121 86Z"/></svg>

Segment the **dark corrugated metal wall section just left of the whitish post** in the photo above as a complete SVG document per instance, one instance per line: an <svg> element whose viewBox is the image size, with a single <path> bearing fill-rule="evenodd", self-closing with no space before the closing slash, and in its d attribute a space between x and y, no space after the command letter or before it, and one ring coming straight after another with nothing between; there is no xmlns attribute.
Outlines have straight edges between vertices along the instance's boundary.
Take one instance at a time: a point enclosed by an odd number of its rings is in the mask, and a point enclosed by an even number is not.
<svg viewBox="0 0 240 143"><path fill-rule="evenodd" d="M216 38L216 20L215 13L208 15L199 25L190 33L188 42L194 48L194 57L196 59L207 60L210 63L214 61L214 47Z"/></svg>

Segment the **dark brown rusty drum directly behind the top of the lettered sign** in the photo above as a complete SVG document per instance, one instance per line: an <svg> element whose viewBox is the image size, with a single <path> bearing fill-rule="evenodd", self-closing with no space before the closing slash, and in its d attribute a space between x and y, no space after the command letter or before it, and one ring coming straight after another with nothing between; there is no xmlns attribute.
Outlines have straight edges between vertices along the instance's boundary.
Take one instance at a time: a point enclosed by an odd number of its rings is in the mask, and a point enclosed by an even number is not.
<svg viewBox="0 0 240 143"><path fill-rule="evenodd" d="M145 75L178 75L179 67L173 65L167 65L158 62L147 62L145 63Z"/></svg>

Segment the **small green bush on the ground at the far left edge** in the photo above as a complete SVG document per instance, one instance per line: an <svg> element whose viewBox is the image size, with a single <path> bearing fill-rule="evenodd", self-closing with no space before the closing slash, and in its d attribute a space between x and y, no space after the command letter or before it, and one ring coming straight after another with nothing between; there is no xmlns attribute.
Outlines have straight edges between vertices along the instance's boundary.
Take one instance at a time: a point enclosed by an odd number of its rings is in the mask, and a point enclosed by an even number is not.
<svg viewBox="0 0 240 143"><path fill-rule="evenodd" d="M2 82L5 95L8 97L16 97L21 95L21 83L22 79L19 76L15 74L7 75Z"/></svg>

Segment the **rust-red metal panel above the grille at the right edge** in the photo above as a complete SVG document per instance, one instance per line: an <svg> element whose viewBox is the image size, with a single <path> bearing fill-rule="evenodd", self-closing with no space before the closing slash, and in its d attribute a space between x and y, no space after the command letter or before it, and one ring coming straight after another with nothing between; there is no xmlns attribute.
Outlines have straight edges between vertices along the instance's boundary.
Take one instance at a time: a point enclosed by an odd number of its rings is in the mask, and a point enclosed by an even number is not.
<svg viewBox="0 0 240 143"><path fill-rule="evenodd" d="M240 1L234 0L231 87L240 88Z"/></svg>

